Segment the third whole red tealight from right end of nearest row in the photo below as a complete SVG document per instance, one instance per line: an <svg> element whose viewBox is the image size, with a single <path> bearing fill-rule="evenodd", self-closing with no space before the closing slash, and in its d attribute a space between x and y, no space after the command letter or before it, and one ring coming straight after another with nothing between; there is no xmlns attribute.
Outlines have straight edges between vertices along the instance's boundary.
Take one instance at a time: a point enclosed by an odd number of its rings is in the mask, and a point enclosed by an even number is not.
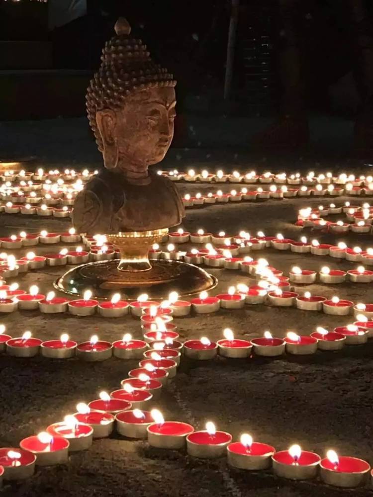
<svg viewBox="0 0 373 497"><path fill-rule="evenodd" d="M275 451L272 445L253 442L251 435L243 433L239 442L227 446L227 461L234 468L259 471L270 468Z"/></svg>

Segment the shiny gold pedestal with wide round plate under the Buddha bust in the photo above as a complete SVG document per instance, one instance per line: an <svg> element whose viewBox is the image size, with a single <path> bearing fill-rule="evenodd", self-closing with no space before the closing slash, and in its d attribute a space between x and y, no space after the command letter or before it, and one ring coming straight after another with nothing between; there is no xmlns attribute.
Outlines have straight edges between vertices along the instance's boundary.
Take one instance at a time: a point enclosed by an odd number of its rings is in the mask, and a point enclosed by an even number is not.
<svg viewBox="0 0 373 497"><path fill-rule="evenodd" d="M167 234L168 229L107 235L108 242L120 251L119 261L104 260L74 267L54 286L73 295L83 295L90 289L93 296L106 299L119 292L122 298L129 300L136 299L140 293L163 299L171 291L186 297L214 288L217 279L193 264L178 260L149 260L149 249Z"/></svg>

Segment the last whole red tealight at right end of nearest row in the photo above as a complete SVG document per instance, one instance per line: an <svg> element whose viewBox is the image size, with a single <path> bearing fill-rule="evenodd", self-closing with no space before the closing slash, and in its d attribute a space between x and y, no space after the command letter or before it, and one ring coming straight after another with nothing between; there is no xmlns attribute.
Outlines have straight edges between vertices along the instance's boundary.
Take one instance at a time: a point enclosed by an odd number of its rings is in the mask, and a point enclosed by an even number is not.
<svg viewBox="0 0 373 497"><path fill-rule="evenodd" d="M367 461L357 457L338 456L334 450L328 450L326 458L320 461L321 480L333 487L359 487L365 482L370 469Z"/></svg>

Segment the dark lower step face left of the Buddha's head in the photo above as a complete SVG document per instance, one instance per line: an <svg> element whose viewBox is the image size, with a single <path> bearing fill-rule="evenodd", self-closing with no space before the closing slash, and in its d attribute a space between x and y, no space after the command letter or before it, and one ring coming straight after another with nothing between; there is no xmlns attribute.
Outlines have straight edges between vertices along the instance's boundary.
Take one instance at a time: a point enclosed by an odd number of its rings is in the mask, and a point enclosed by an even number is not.
<svg viewBox="0 0 373 497"><path fill-rule="evenodd" d="M91 71L0 71L0 120L83 116L91 78Z"/></svg>

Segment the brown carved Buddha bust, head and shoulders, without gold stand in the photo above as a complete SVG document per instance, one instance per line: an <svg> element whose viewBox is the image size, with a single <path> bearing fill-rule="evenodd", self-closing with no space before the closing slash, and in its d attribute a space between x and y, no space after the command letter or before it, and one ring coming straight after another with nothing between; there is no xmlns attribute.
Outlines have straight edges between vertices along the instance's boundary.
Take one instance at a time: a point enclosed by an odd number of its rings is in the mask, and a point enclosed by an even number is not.
<svg viewBox="0 0 373 497"><path fill-rule="evenodd" d="M74 226L88 235L168 228L185 216L174 183L148 169L162 161L174 135L176 82L141 40L129 38L126 19L118 19L115 31L87 90L105 166L74 205Z"/></svg>

